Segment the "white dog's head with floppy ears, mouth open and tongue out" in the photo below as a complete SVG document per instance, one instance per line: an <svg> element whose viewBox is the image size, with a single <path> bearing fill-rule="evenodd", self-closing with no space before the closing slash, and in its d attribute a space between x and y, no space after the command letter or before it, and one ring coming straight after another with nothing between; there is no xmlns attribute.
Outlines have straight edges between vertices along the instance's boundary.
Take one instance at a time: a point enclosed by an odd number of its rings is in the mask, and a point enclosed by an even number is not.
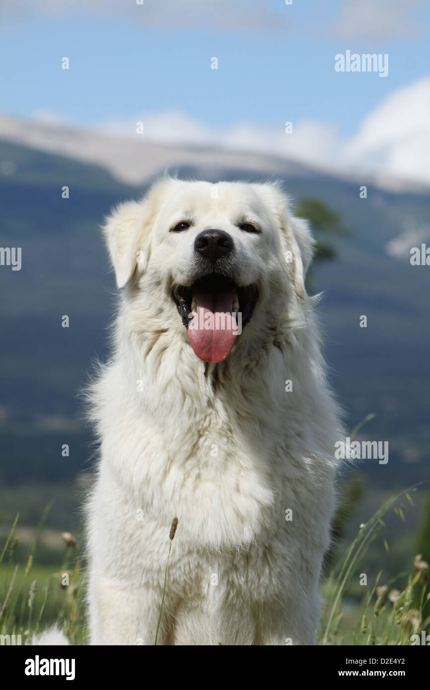
<svg viewBox="0 0 430 690"><path fill-rule="evenodd" d="M180 329L206 362L222 362L237 339L274 339L306 299L313 242L276 184L162 179L104 230L139 329Z"/></svg>

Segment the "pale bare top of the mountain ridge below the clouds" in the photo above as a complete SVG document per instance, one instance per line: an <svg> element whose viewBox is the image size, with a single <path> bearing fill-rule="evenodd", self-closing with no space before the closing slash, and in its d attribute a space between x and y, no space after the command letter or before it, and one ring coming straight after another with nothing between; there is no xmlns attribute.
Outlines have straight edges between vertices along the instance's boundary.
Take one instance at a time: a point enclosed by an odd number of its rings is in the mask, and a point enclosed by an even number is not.
<svg viewBox="0 0 430 690"><path fill-rule="evenodd" d="M173 127L173 121L165 121L164 128ZM375 124L380 127L377 119ZM250 135L257 143L257 132ZM321 133L321 136L324 136ZM366 132L362 134L362 147L370 157L382 154L374 151L369 144ZM301 163L300 161L264 152L243 150L235 141L230 141L229 148L220 146L189 146L166 144L147 139L144 134L133 136L118 136L99 128L79 128L76 125L64 124L63 121L40 121L0 115L0 140L30 147L39 152L66 156L93 166L108 170L117 181L122 184L148 184L156 175L165 170L175 172L180 168L193 170L197 177L203 179L221 179L224 171L237 170L242 175L257 175L261 177L316 179L331 177L338 181L349 179L357 184L363 184L363 175L346 174L330 171L333 161L328 160L324 169L318 169ZM233 146L235 144L235 146ZM355 143L355 148L358 144ZM369 148L370 147L370 148ZM280 149L281 151L282 149ZM384 151L384 156L387 152ZM13 164L5 159L3 169L8 170ZM360 168L363 167L360 161ZM365 166L364 166L365 169ZM384 170L377 175L365 177L373 186L394 191L429 191L429 185L424 182L411 182L406 177L387 175ZM424 178L423 178L424 179ZM418 186L419 184L419 186Z"/></svg>

